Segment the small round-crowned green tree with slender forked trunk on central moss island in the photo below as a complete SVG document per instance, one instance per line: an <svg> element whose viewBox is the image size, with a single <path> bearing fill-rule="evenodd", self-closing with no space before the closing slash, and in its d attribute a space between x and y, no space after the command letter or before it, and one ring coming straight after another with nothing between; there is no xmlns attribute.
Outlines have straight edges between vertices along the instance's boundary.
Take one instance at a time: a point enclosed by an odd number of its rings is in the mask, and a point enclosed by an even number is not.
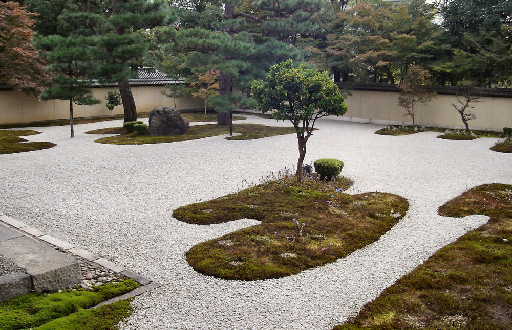
<svg viewBox="0 0 512 330"><path fill-rule="evenodd" d="M271 66L265 79L252 83L251 91L258 110L263 113L275 110L272 114L275 120L289 120L295 127L299 154L296 175L302 181L306 143L316 120L347 111L338 86L327 72L304 65L293 67L293 61L287 60Z"/></svg>

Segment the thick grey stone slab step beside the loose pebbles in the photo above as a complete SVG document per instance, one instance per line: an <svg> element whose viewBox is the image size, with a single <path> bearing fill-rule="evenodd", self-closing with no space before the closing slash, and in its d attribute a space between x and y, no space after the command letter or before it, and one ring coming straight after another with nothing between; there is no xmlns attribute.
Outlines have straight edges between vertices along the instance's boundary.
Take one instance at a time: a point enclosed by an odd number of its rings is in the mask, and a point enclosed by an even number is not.
<svg viewBox="0 0 512 330"><path fill-rule="evenodd" d="M0 242L0 251L25 268L36 292L71 288L82 280L80 263L75 258L26 235Z"/></svg>

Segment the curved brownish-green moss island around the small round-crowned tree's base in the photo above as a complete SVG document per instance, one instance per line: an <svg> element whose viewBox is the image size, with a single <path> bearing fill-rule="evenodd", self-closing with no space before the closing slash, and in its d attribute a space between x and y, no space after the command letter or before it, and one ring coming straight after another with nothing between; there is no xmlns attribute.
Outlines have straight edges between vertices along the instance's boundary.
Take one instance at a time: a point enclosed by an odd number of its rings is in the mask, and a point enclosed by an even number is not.
<svg viewBox="0 0 512 330"><path fill-rule="evenodd" d="M343 258L378 240L406 213L406 199L388 193L343 193L352 182L310 176L268 181L238 193L176 209L194 224L242 218L262 223L199 243L187 253L196 271L229 280L300 273Z"/></svg>

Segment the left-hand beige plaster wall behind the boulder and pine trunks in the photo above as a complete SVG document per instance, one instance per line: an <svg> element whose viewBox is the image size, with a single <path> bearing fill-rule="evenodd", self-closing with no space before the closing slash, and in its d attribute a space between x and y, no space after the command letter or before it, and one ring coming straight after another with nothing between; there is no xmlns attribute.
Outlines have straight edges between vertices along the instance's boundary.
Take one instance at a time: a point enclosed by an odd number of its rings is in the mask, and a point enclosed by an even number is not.
<svg viewBox="0 0 512 330"><path fill-rule="evenodd" d="M132 86L131 88L137 112L149 112L161 106L174 108L174 99L161 93L162 90L168 90L164 86ZM110 111L105 105L105 95L110 90L118 89L116 87L92 88L93 95L101 103L91 106L73 104L73 116L75 118L109 116ZM200 98L181 97L176 99L176 108L179 110L203 109L204 102ZM123 106L116 106L114 114L123 114ZM0 90L0 124L67 118L69 118L69 101L39 101L32 94Z"/></svg>

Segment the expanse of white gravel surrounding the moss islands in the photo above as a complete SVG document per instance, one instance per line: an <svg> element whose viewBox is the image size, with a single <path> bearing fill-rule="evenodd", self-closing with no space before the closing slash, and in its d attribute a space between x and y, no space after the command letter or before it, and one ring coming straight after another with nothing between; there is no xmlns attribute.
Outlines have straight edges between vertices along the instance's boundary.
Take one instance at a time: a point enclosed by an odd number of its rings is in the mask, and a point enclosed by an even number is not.
<svg viewBox="0 0 512 330"><path fill-rule="evenodd" d="M290 126L247 118L237 123ZM383 136L373 134L382 126L327 117L317 121L306 162L343 160L342 175L355 182L349 193L403 196L410 203L406 216L375 243L334 263L280 279L227 281L194 271L185 252L259 222L200 226L171 214L236 191L244 179L258 182L269 171L294 166L296 136L117 146L96 144L100 136L84 134L121 123L75 125L74 139L66 126L34 128L44 133L27 139L57 146L0 155L0 213L164 284L134 300L123 329L329 329L487 221L442 217L439 206L476 185L512 183L512 155L489 150L496 139L443 140L434 132Z"/></svg>

